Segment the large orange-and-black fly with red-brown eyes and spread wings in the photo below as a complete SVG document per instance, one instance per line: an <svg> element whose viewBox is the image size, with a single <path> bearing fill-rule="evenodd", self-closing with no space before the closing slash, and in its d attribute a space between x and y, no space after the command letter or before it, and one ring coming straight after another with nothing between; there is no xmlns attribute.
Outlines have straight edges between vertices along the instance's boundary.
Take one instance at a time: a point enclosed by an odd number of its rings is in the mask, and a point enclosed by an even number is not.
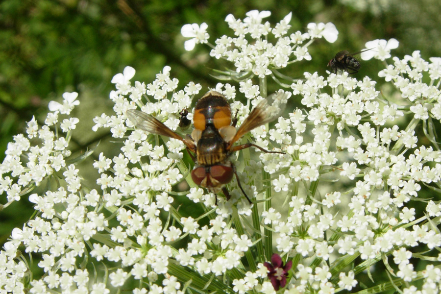
<svg viewBox="0 0 441 294"><path fill-rule="evenodd" d="M286 98L285 94L274 95L275 101ZM222 192L229 200L230 194L225 185L231 182L234 174L239 188L251 204L251 200L242 188L236 167L230 160L230 156L236 151L251 146L266 153L283 154L283 152L266 150L253 143L234 146L234 143L252 129L277 118L279 110L279 107L270 106L267 100L263 99L236 129L237 118L232 120L231 108L227 99L219 92L209 91L197 101L193 115L195 129L191 136L187 135L185 138L142 111L130 109L127 110L126 116L137 128L182 141L195 162L191 175L196 185L206 188L216 195ZM216 197L216 204L217 200Z"/></svg>

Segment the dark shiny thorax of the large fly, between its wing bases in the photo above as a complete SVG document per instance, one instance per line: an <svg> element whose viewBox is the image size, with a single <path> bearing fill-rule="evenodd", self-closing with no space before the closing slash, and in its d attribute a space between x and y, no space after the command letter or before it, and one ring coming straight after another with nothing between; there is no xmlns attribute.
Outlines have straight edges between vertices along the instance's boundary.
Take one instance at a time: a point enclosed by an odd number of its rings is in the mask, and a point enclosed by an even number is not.
<svg viewBox="0 0 441 294"><path fill-rule="evenodd" d="M212 124L207 124L197 141L196 159L200 165L212 166L223 163L229 154L225 149L225 141Z"/></svg>

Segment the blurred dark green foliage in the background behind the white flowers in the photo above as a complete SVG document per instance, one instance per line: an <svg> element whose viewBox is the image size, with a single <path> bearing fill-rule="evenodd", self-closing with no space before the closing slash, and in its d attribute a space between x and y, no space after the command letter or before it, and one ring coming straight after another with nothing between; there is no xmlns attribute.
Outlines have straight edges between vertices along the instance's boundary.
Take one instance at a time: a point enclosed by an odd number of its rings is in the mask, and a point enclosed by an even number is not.
<svg viewBox="0 0 441 294"><path fill-rule="evenodd" d="M345 1L348 2L348 1ZM210 41L231 35L224 22L232 13L245 18L247 11L270 10L268 19L277 23L293 12L293 30L306 31L311 22L332 22L339 30L336 43L316 41L309 47L311 62L295 63L286 74L300 78L303 72L325 74L327 62L340 50L359 51L369 40L396 38L399 57L421 50L423 58L440 56L441 4L437 0L390 0L388 8L375 14L367 8L356 10L335 0L2 0L0 2L0 160L12 136L21 133L25 121L42 123L50 100L76 91L81 104L73 116L81 124L74 131L76 152L101 140L105 147L110 132L91 131L92 119L111 113L108 99L112 76L125 66L136 69L136 80L149 81L165 65L180 86L194 81L214 87L213 68L222 62L209 58L209 48L197 45L186 52L180 28L184 24L208 24ZM375 77L379 61L362 64L362 74ZM112 154L106 154L112 158ZM91 158L90 160L93 160ZM90 165L89 163L86 163ZM94 171L91 171L94 172ZM83 174L94 179L97 175ZM94 181L91 180L92 186ZM4 203L4 199L1 200ZM0 244L13 227L23 224L33 210L27 201L15 203L1 212Z"/></svg>

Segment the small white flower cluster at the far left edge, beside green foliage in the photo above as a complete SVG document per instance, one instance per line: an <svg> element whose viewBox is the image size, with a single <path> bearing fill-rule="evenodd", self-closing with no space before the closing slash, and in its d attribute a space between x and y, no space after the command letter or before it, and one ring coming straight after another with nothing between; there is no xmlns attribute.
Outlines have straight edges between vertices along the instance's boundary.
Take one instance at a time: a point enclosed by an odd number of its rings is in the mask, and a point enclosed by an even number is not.
<svg viewBox="0 0 441 294"><path fill-rule="evenodd" d="M71 155L67 149L71 139L71 130L79 122L77 118L59 120L59 115L69 115L75 105L79 104L77 93L63 94L63 104L55 101L49 103L49 112L43 126L39 126L35 118L27 123L27 135L14 136L14 142L8 144L5 158L0 165L0 194L7 195L9 205L12 201L20 200L30 190L28 186L40 186L44 178L60 170L74 169L73 165L66 168L66 157ZM65 136L60 136L58 127ZM31 140L40 144L31 146ZM12 177L12 178L11 178ZM69 177L72 192L78 190L78 178ZM76 187L76 188L75 188Z"/></svg>

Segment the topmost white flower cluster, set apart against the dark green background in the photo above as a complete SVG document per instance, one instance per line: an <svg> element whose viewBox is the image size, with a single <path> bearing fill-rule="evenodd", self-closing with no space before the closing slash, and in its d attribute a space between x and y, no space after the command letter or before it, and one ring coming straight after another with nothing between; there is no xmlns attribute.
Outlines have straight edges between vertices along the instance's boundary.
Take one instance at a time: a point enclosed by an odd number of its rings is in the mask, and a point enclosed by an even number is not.
<svg viewBox="0 0 441 294"><path fill-rule="evenodd" d="M263 22L264 18L271 15L270 11L252 10L246 13L244 20L235 19L229 14L225 21L234 31L235 37L222 36L215 41L214 47L210 55L220 59L224 58L232 62L237 73L251 72L260 78L270 75L272 70L287 67L295 61L311 60L308 52L308 46L316 38L325 38L328 42L337 40L338 31L332 23L328 24L308 24L308 32L302 33L296 31L288 35L291 28L289 24L292 13L289 13L275 27L271 27L269 22ZM194 33L189 34L187 30L193 29ZM182 35L184 37L195 38L186 41L186 49L192 50L196 43L207 43L208 34L203 34L206 39L203 42L200 38L201 31L205 32L207 25L204 23L200 28L196 25L184 25L182 27ZM272 36L276 39L272 44L268 37ZM250 38L250 39L249 39ZM308 41L309 40L309 41ZM188 46L187 42L191 42L192 46ZM306 44L304 44L306 43Z"/></svg>

